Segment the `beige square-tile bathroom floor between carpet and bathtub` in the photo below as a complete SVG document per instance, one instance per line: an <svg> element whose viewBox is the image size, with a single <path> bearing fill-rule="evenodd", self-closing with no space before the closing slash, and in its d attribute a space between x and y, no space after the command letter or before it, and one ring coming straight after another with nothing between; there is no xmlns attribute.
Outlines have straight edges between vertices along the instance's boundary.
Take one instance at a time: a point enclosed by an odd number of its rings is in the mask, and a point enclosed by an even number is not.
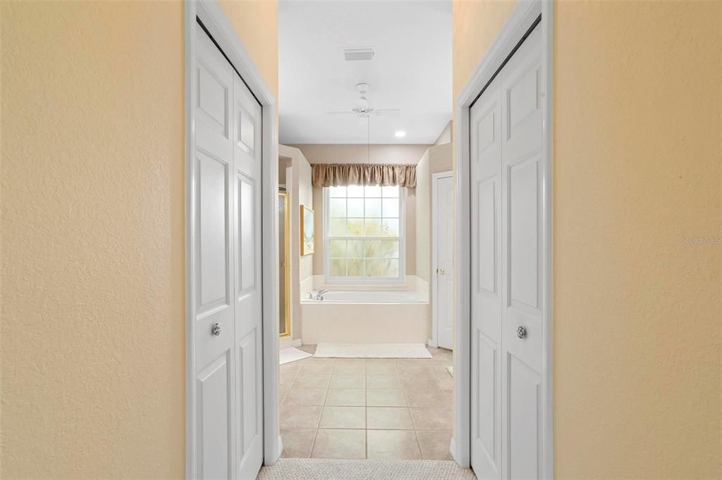
<svg viewBox="0 0 722 480"><path fill-rule="evenodd" d="M429 351L431 359L281 365L281 456L451 460L451 352Z"/></svg>

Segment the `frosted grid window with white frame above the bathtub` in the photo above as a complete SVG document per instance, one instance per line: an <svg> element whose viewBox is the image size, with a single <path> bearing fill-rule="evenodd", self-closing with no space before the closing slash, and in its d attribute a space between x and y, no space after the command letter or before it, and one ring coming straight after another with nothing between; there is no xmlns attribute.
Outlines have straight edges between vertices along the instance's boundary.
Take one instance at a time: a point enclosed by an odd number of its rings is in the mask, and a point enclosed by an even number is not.
<svg viewBox="0 0 722 480"><path fill-rule="evenodd" d="M404 278L404 196L400 187L323 189L326 281Z"/></svg>

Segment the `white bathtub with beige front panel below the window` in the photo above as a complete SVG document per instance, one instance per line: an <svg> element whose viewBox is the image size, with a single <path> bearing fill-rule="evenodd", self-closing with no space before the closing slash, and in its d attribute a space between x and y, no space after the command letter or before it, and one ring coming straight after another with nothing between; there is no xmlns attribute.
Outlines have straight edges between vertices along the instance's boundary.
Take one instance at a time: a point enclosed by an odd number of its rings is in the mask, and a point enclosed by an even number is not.
<svg viewBox="0 0 722 480"><path fill-rule="evenodd" d="M304 344L426 343L431 316L416 290L329 290L301 301Z"/></svg>

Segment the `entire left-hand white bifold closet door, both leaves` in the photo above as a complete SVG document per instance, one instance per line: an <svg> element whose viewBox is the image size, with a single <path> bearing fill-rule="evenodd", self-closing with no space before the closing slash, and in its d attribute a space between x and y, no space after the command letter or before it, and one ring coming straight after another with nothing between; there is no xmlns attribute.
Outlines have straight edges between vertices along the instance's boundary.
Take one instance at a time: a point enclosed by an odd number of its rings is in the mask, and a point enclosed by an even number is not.
<svg viewBox="0 0 722 480"><path fill-rule="evenodd" d="M193 185L199 479L254 479L263 461L261 107L196 25Z"/></svg>

